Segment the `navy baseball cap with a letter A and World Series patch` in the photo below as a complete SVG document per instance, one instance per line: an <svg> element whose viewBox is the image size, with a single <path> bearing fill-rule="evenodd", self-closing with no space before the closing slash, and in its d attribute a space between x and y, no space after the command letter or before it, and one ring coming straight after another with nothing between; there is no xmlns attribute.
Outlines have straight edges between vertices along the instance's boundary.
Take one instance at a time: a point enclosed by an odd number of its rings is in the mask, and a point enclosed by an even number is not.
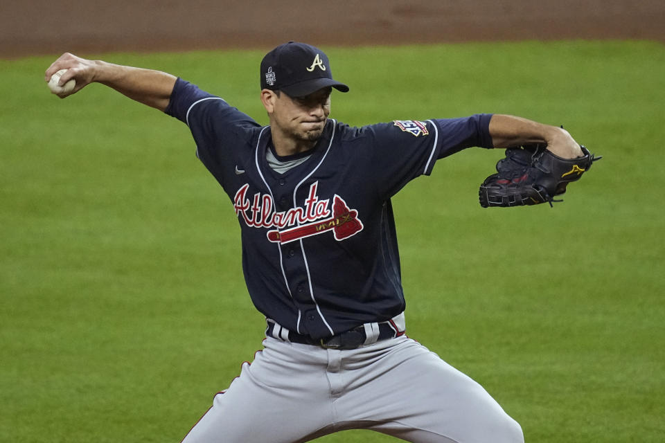
<svg viewBox="0 0 665 443"><path fill-rule="evenodd" d="M261 89L279 89L287 96L303 97L325 87L348 92L346 84L332 80L328 56L319 48L288 42L274 48L261 61Z"/></svg>

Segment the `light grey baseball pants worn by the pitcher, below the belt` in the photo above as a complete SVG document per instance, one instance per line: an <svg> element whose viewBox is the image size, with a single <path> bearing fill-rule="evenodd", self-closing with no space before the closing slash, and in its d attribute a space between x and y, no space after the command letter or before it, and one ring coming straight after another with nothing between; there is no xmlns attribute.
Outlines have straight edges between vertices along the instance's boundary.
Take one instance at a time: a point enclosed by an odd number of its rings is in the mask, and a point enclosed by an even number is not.
<svg viewBox="0 0 665 443"><path fill-rule="evenodd" d="M478 383L411 338L328 350L269 337L184 443L294 443L364 428L419 443L522 443Z"/></svg>

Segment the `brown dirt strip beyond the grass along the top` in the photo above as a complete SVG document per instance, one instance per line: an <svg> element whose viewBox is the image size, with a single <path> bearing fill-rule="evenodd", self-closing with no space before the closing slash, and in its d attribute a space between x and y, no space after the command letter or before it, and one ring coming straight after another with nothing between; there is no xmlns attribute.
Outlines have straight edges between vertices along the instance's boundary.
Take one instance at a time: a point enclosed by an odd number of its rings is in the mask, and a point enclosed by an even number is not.
<svg viewBox="0 0 665 443"><path fill-rule="evenodd" d="M665 42L663 0L10 1L0 57L517 39ZM101 3L101 2L100 2Z"/></svg>

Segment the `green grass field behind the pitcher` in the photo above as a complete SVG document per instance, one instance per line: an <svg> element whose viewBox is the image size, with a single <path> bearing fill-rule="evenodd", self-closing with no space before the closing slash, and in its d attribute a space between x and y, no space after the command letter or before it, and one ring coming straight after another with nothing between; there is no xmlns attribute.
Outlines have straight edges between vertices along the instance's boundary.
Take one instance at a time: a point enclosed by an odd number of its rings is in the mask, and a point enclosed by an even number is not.
<svg viewBox="0 0 665 443"><path fill-rule="evenodd" d="M527 442L665 441L665 47L326 49L346 123L515 114L604 156L554 208L479 206L499 150L410 183L393 200L409 335ZM180 75L267 123L263 51L81 55ZM52 96L55 57L0 61L0 441L178 442L261 345L238 222L185 125L98 84Z"/></svg>

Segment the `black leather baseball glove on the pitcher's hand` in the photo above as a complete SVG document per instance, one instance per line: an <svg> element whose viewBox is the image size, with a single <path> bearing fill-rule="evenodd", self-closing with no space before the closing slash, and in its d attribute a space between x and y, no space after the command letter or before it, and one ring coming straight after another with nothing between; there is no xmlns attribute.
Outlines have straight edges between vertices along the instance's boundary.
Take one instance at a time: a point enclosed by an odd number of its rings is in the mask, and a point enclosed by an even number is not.
<svg viewBox="0 0 665 443"><path fill-rule="evenodd" d="M549 203L555 195L566 192L571 181L579 180L596 160L584 146L584 156L562 159L549 152L545 145L511 147L506 158L497 163L497 174L487 177L478 192L480 206L522 206Z"/></svg>

